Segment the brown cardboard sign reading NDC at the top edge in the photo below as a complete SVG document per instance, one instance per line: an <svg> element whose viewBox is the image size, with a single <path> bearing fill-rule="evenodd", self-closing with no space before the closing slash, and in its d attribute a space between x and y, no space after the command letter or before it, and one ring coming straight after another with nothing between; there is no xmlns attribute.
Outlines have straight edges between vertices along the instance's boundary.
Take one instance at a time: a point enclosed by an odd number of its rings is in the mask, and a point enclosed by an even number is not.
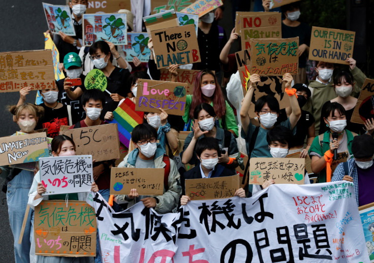
<svg viewBox="0 0 374 263"><path fill-rule="evenodd" d="M114 13L120 9L131 10L131 0L88 0L86 14Z"/></svg>

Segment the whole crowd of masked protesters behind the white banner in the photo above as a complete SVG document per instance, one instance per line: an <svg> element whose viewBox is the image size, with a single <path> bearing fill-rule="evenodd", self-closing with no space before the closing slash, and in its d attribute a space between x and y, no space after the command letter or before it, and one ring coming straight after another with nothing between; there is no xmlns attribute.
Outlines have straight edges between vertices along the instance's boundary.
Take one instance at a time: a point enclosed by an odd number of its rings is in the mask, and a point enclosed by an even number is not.
<svg viewBox="0 0 374 263"><path fill-rule="evenodd" d="M141 1L139 1L141 2ZM236 1L240 2L240 1ZM235 3L236 3L235 2ZM269 11L269 2L262 1L263 11ZM234 1L233 1L234 3ZM235 5L234 3L234 5ZM59 135L61 126L70 129L105 125L113 120L113 111L126 99L136 103L141 95L138 79L160 80L152 41L148 63L134 57L127 61L126 50L107 41L97 41L90 47L82 46L82 14L87 0L70 0L76 37L60 32L53 41L60 54L59 68L66 77L56 82L57 89L40 91L42 103L25 103L31 88L19 91L19 101L9 106L13 121L21 133L33 134L44 129L51 143L53 156L75 155L74 141ZM239 4L238 4L239 5ZM145 30L139 16L147 15L143 6L134 7L127 13L128 31ZM236 11L240 10L234 6ZM144 7L144 10L146 8ZM272 10L271 10L272 11ZM184 116L144 112L143 123L137 125L131 136L129 151L117 167L163 168L167 180L164 193L158 196L141 196L137 189L129 194L110 196L110 169L116 160L95 161L91 190L99 192L116 211L130 208L138 202L158 213L175 212L178 206L191 201L185 195L186 179L213 178L235 175L236 169L247 170L249 161L243 162L241 153L252 157L285 158L290 154L305 159L304 183L323 183L346 180L354 183L357 205L374 202L369 185L374 175L374 119L364 124L351 122L357 97L365 74L356 67L354 58L348 58L346 68L325 61L309 61L310 25L299 22L300 2L282 6L282 37L299 37L299 74L282 76L285 94L290 106L280 109L273 95L256 97L258 85L272 77L252 74L243 95L235 56L229 54L231 45L240 36L233 29L229 40L217 21L222 18L223 7L202 16L199 20L198 45L201 62L183 65L199 71L194 79L191 95L186 95ZM134 16L135 15L135 16ZM234 22L233 22L234 23ZM237 52L239 50L235 50ZM204 54L204 55L202 55ZM314 70L307 73L307 64ZM169 72L176 82L178 65L171 65ZM100 70L107 79L107 90L86 89L84 78L92 69ZM308 76L314 76L313 79ZM71 80L80 78L81 85ZM110 95L109 95L110 93ZM251 104L254 112L250 114ZM51 125L53 123L54 125ZM180 145L179 131L191 131ZM15 134L14 134L15 135ZM339 164L333 165L334 152ZM294 156L295 157L295 156ZM178 162L175 162L178 158ZM186 170L185 165L193 167ZM34 172L17 168L1 167L0 176L6 178L9 221L14 236L16 262L89 262L89 257L36 256L33 237L33 209L41 201L65 200L66 195L42 195L47 189L40 182L38 165ZM245 175L244 175L245 176ZM314 177L315 180L311 178ZM263 185L244 183L235 195L248 198L264 188L271 187L274 180ZM69 200L85 200L83 193L69 193ZM111 203L111 202L109 202ZM24 227L22 243L18 244L26 206L30 210ZM98 229L100 232L100 229ZM102 262L100 235L97 242L96 262Z"/></svg>

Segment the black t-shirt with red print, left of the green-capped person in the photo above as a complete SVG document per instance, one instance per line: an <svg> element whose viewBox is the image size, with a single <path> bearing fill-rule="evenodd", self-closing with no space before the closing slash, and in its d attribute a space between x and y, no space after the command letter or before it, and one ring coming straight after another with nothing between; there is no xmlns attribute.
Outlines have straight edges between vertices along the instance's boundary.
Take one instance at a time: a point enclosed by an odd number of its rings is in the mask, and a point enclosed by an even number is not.
<svg viewBox="0 0 374 263"><path fill-rule="evenodd" d="M69 114L68 108L63 104L63 107L59 109L52 109L45 106L44 103L41 105L44 108L44 115L39 119L35 129L47 129L47 136L54 138L58 135L61 125L69 125Z"/></svg>

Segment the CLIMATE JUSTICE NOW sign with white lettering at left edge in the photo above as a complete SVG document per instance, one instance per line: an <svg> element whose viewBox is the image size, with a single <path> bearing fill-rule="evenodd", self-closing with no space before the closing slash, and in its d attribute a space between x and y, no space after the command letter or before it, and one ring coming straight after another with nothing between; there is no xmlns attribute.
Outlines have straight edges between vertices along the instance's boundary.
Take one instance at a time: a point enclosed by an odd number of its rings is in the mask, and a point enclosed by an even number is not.
<svg viewBox="0 0 374 263"><path fill-rule="evenodd" d="M48 156L45 133L0 138L0 166L38 161Z"/></svg>

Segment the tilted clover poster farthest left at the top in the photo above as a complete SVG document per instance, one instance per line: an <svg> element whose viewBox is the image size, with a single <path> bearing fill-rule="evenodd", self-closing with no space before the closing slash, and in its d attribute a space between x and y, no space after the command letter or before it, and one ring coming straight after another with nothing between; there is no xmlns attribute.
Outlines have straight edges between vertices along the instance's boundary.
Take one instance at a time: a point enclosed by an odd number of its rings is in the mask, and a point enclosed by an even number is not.
<svg viewBox="0 0 374 263"><path fill-rule="evenodd" d="M69 6L56 6L43 3L48 28L53 34L59 31L68 36L75 36L72 14Z"/></svg>

